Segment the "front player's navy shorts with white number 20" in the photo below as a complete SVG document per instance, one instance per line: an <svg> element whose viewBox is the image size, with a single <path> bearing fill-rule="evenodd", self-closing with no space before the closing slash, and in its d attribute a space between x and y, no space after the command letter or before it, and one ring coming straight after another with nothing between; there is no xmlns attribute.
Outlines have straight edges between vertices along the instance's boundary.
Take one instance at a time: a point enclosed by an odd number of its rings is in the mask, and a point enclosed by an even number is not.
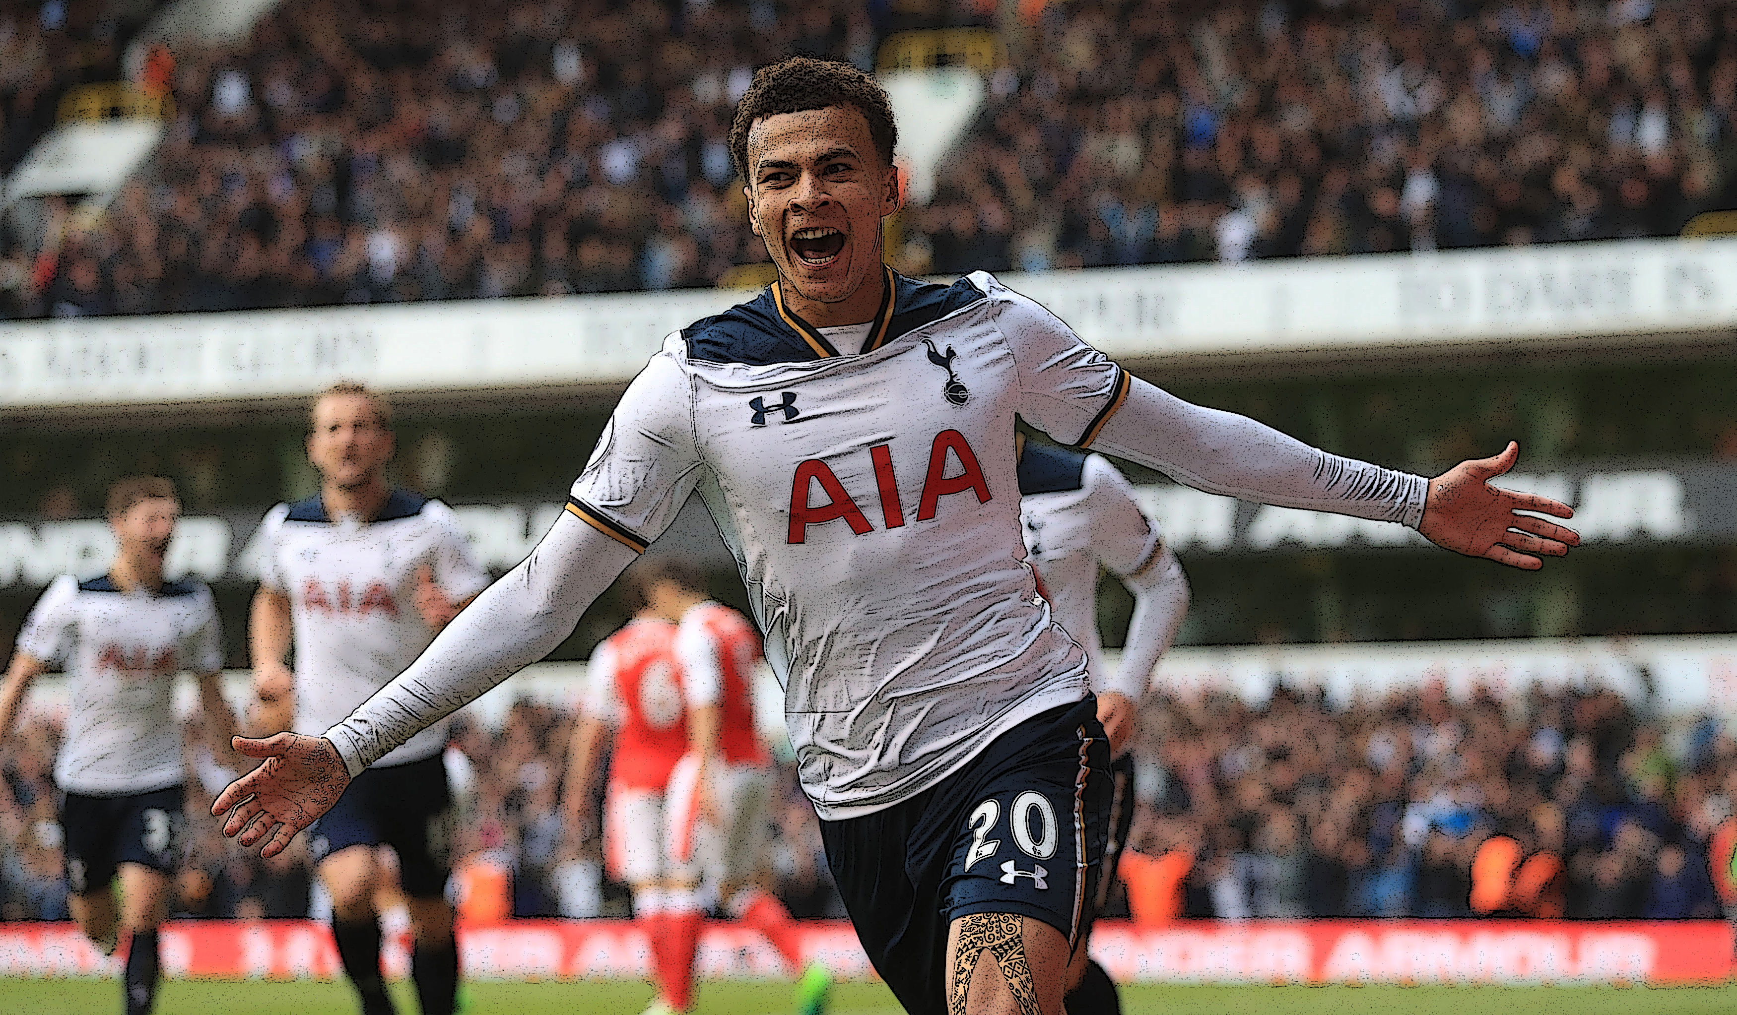
<svg viewBox="0 0 1737 1015"><path fill-rule="evenodd" d="M1110 795L1110 748L1086 697L1021 722L903 803L820 822L856 937L907 1012L945 1013L947 932L961 916L1030 916L1084 944Z"/></svg>

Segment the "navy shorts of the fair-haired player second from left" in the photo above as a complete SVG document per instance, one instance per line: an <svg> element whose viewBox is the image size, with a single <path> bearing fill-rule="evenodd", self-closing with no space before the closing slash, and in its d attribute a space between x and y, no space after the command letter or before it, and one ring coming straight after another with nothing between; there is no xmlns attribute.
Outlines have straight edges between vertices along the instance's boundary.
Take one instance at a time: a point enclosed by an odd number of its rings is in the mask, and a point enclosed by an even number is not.
<svg viewBox="0 0 1737 1015"><path fill-rule="evenodd" d="M307 826L314 862L356 845L389 845L398 880L412 899L439 899L452 874L452 791L439 755L367 769L349 781L332 810Z"/></svg>

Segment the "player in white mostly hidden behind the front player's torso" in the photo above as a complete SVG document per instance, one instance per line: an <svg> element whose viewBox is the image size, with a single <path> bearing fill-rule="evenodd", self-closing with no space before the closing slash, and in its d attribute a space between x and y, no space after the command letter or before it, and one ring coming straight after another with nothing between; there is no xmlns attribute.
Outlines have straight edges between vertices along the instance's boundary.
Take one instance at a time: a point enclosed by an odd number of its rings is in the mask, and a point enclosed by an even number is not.
<svg viewBox="0 0 1737 1015"><path fill-rule="evenodd" d="M1134 488L1101 455L1084 455L1018 435L1020 526L1037 590L1073 640L1086 649L1098 722L1110 737L1110 840L1103 848L1094 911L1115 883L1117 861L1134 822L1136 704L1159 656L1176 640L1188 612L1188 578L1159 527L1134 503ZM1098 569L1134 593L1122 663L1112 673L1098 638ZM1068 1010L1120 1012L1115 982L1087 959Z"/></svg>

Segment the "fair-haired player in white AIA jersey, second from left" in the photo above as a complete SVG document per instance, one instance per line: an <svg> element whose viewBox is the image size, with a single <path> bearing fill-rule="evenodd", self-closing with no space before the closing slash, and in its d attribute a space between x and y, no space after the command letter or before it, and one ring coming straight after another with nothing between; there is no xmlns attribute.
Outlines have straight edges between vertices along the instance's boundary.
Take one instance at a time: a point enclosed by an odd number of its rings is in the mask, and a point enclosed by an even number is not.
<svg viewBox="0 0 1737 1015"><path fill-rule="evenodd" d="M278 505L262 524L259 592L248 625L261 697L295 703L295 729L318 732L349 715L427 647L488 585L452 508L386 482L391 408L356 383L313 403L307 460L320 494ZM295 668L285 659L295 647ZM294 687L294 694L287 694ZM446 902L452 798L445 724L370 758L309 845L332 895L332 935L367 1015L393 1010L380 979L373 894L389 876L377 848L398 852L408 899L410 973L424 1015L450 1015L459 953Z"/></svg>

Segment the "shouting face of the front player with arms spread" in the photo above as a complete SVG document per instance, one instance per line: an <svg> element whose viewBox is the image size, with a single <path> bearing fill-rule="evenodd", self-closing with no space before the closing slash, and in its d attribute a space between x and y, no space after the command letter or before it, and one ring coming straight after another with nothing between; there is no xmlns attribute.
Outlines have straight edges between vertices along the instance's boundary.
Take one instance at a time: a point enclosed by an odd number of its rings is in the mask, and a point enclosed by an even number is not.
<svg viewBox="0 0 1737 1015"><path fill-rule="evenodd" d="M898 210L898 170L855 108L756 120L745 193L754 234L802 300L841 304L881 278L881 219Z"/></svg>

